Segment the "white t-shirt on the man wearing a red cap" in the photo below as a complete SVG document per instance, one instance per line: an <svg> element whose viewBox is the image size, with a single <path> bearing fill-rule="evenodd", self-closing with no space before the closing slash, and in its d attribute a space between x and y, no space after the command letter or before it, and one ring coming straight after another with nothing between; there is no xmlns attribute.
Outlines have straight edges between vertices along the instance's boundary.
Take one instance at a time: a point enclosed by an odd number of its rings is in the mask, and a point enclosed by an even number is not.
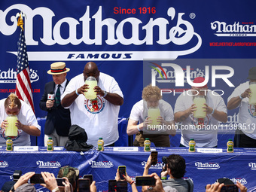
<svg viewBox="0 0 256 192"><path fill-rule="evenodd" d="M191 93L189 93L191 95ZM227 114L227 106L224 100L218 93L212 94L212 90L209 90L206 95L206 104L209 107L214 108L217 111L224 111ZM174 113L184 111L194 103L193 96L187 95L187 91L184 94L178 96L175 103ZM190 114L187 119L181 122L181 145L188 147L190 139L194 139L196 146L200 148L212 148L218 145L218 123L219 121L212 117L211 114L207 114L204 118L204 128L197 129L198 120L193 114Z"/></svg>

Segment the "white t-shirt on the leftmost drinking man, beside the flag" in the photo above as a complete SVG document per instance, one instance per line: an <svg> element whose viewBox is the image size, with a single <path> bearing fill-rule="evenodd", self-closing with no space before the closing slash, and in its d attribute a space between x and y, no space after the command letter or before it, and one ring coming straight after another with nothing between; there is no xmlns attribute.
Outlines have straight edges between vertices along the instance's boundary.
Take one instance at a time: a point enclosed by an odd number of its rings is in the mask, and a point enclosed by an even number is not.
<svg viewBox="0 0 256 192"><path fill-rule="evenodd" d="M35 114L32 111L32 108L26 104L26 102L21 102L21 108L20 113L17 115L18 120L20 120L20 123L23 123L24 125L29 126L36 126L38 130L41 130L41 126L38 125L38 120L36 120ZM6 119L8 117L8 114L5 112L5 99L2 99L0 101L0 122ZM14 146L30 146L30 135L28 133L23 132L23 130L18 130L18 136L17 137L11 137ZM7 136L5 136L5 129L0 130L0 145L6 146L6 140Z"/></svg>

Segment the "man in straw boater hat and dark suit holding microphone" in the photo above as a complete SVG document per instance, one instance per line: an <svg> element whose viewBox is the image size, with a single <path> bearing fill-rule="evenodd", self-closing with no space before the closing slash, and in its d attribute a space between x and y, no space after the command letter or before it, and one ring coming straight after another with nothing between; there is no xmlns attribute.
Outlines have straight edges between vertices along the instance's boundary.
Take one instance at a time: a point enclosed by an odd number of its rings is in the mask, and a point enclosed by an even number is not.
<svg viewBox="0 0 256 192"><path fill-rule="evenodd" d="M60 102L60 96L69 84L69 80L66 79L69 70L65 62L53 62L47 72L53 75L53 81L45 84L44 94L39 103L40 108L47 111L44 145L47 145L49 137L53 139L54 146L64 146L69 140L70 111L63 108Z"/></svg>

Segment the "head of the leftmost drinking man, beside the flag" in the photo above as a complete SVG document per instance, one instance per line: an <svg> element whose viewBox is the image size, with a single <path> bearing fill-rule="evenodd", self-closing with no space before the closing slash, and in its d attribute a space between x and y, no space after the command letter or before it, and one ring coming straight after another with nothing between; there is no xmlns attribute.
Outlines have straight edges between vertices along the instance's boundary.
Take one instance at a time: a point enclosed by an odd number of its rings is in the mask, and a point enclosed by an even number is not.
<svg viewBox="0 0 256 192"><path fill-rule="evenodd" d="M19 114L21 108L20 99L14 94L11 93L8 98L5 99L5 112L6 114Z"/></svg>

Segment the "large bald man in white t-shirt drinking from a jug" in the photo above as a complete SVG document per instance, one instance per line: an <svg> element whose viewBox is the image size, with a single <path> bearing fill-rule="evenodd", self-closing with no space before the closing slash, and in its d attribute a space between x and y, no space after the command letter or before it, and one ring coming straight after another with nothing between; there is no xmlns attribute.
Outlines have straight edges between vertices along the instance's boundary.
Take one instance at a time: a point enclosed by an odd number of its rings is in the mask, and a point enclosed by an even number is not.
<svg viewBox="0 0 256 192"><path fill-rule="evenodd" d="M96 99L92 100L84 96L89 89L84 81L90 76L97 80L93 87ZM87 133L87 144L97 146L102 137L105 146L114 146L118 139L118 113L123 105L123 93L114 78L99 72L95 62L87 62L84 73L72 78L61 99L62 106L70 110L72 125L81 126Z"/></svg>

